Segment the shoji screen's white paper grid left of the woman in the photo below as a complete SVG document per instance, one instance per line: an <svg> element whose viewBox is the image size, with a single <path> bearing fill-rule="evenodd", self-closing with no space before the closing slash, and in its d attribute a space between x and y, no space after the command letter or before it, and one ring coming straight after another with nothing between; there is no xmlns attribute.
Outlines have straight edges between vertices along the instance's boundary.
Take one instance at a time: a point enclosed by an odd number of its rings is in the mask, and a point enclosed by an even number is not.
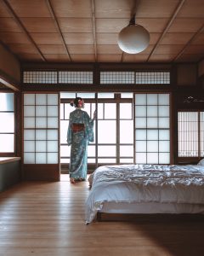
<svg viewBox="0 0 204 256"><path fill-rule="evenodd" d="M58 94L24 95L24 164L59 163Z"/></svg>

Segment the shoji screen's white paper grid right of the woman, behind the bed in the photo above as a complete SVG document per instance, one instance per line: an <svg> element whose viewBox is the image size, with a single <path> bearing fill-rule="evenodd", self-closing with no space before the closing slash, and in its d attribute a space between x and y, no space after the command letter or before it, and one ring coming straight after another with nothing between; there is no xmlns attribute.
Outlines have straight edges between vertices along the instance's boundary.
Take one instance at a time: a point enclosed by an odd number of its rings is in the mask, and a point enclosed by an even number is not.
<svg viewBox="0 0 204 256"><path fill-rule="evenodd" d="M135 163L170 163L169 94L135 95Z"/></svg>

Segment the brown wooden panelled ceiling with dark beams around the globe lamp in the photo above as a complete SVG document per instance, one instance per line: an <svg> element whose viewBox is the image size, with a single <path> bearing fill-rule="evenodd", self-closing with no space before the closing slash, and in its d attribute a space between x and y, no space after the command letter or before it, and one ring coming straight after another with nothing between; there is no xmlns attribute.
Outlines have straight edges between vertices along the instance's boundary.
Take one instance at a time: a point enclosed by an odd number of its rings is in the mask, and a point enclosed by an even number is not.
<svg viewBox="0 0 204 256"><path fill-rule="evenodd" d="M117 36L134 11L150 45L129 55ZM1 0L0 41L22 62L201 61L204 0Z"/></svg>

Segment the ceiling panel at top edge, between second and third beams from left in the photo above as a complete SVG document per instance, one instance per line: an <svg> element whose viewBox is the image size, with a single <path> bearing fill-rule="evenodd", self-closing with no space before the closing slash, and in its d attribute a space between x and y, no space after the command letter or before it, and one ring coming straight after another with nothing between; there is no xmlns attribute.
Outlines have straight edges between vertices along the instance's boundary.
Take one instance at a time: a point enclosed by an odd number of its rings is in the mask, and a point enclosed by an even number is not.
<svg viewBox="0 0 204 256"><path fill-rule="evenodd" d="M91 18L92 16L90 0L57 0L50 2L58 18Z"/></svg>

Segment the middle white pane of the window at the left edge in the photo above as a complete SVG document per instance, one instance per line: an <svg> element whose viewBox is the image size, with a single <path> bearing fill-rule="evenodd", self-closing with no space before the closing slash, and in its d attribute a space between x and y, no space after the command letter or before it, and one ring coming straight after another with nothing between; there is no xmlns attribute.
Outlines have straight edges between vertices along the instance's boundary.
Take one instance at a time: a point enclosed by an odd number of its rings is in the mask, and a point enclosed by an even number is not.
<svg viewBox="0 0 204 256"><path fill-rule="evenodd" d="M0 113L0 132L14 132L14 112Z"/></svg>

